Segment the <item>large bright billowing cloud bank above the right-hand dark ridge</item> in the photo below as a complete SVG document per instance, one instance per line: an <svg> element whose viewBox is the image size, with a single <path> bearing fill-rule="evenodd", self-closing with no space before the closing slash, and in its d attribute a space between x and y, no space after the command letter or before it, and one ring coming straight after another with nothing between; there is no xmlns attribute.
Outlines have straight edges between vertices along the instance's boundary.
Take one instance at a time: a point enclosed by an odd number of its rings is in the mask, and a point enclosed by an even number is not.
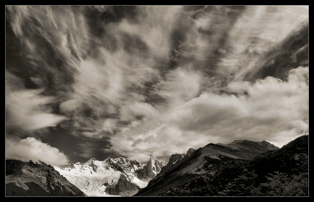
<svg viewBox="0 0 314 202"><path fill-rule="evenodd" d="M237 96L204 92L129 126L112 137L111 149L145 160L153 151L155 156L171 155L243 139L266 140L281 147L308 132L307 83L308 67L291 70L287 82L267 77L255 83L230 83L225 92Z"/></svg>

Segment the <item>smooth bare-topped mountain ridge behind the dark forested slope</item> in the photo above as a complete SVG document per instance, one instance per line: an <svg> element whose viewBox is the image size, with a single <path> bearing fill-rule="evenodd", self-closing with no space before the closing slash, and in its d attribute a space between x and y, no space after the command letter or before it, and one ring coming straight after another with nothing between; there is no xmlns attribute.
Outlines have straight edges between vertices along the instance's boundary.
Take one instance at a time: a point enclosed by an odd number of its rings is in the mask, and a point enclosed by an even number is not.
<svg viewBox="0 0 314 202"><path fill-rule="evenodd" d="M147 187L141 189L136 196L168 194L173 187L181 186L188 181L206 175L217 165L234 159L250 159L270 149L278 147L263 141L234 141L228 145L208 144L199 148L191 156L181 159L176 166L169 169L169 163L162 168L160 174L151 180ZM278 148L279 149L279 148ZM167 169L166 172L163 169ZM178 188L180 190L181 188Z"/></svg>

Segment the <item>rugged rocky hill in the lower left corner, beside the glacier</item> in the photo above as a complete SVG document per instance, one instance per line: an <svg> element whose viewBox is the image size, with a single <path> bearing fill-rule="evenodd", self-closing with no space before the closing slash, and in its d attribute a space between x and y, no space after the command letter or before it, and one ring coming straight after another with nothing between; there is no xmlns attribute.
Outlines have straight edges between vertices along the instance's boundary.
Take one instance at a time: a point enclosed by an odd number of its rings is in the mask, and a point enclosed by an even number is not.
<svg viewBox="0 0 314 202"><path fill-rule="evenodd" d="M6 196L84 196L45 162L6 160Z"/></svg>

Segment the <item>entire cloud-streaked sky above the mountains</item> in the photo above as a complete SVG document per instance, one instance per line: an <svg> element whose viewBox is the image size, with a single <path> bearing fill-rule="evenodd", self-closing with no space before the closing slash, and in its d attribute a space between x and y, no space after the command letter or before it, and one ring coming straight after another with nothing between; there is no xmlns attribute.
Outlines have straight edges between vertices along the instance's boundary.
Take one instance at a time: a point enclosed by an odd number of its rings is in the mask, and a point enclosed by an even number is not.
<svg viewBox="0 0 314 202"><path fill-rule="evenodd" d="M6 159L168 162L309 130L308 6L6 6Z"/></svg>

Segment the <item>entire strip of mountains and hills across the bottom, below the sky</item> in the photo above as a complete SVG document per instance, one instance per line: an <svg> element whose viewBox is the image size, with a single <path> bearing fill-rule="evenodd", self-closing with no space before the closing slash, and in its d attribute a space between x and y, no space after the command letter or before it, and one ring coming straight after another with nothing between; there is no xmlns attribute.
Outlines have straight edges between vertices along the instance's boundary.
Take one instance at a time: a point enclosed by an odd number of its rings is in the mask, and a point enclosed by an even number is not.
<svg viewBox="0 0 314 202"><path fill-rule="evenodd" d="M266 189L272 176L306 184L307 146L308 135L280 149L267 141L210 143L171 155L167 165L152 154L146 164L122 157L104 161L91 158L83 164L58 167L41 161L6 160L6 196L234 196L258 195L257 190L260 195L274 195L273 190ZM233 189L241 187L232 187L240 176L250 179L250 189ZM306 187L299 189L302 191L295 195L304 195Z"/></svg>

